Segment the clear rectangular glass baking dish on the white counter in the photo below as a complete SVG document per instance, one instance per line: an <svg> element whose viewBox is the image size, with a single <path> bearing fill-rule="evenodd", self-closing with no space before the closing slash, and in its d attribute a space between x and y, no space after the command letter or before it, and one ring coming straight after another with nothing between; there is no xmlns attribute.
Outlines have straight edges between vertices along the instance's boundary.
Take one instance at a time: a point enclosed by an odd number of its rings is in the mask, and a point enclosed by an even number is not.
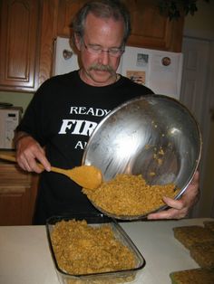
<svg viewBox="0 0 214 284"><path fill-rule="evenodd" d="M102 226L102 224L108 224L112 228L114 237L121 241L123 245L127 246L132 251L136 265L131 270L117 270L102 273L72 275L63 271L56 260L53 243L51 240L51 234L56 222L69 221L75 219L76 221L85 220L90 226ZM116 283L134 283L138 279L138 274L145 265L145 260L138 251L136 246L131 241L130 237L123 231L121 225L114 219L105 216L102 213L95 213L91 215L85 214L73 214L69 216L53 216L46 222L47 239L50 247L50 251L53 258L54 267L60 283L63 284L116 284Z"/></svg>

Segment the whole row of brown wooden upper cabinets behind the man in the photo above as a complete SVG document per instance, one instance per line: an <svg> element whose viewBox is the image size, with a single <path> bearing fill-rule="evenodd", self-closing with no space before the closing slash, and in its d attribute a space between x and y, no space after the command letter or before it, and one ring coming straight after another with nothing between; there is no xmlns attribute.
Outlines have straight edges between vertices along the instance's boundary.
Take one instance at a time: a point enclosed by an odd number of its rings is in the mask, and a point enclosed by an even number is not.
<svg viewBox="0 0 214 284"><path fill-rule="evenodd" d="M180 52L183 18L160 15L158 0L123 0L131 11L128 45ZM69 37L73 15L87 0L0 1L0 90L34 92L52 75L53 43Z"/></svg>

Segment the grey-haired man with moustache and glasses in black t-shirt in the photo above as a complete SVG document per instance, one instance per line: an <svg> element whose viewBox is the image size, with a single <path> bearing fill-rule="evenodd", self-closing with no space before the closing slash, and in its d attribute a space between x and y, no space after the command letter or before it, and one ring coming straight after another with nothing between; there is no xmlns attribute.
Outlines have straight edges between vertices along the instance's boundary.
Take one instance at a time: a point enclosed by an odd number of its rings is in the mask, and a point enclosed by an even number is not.
<svg viewBox="0 0 214 284"><path fill-rule="evenodd" d="M131 32L130 15L120 1L91 1L73 19L73 41L80 52L79 71L53 77L37 90L15 136L16 158L26 171L41 173L34 223L54 214L96 212L81 187L50 166L80 166L83 149L101 119L122 102L152 93L117 74ZM45 148L45 150L44 150ZM197 200L198 174L179 201L148 218L181 218Z"/></svg>

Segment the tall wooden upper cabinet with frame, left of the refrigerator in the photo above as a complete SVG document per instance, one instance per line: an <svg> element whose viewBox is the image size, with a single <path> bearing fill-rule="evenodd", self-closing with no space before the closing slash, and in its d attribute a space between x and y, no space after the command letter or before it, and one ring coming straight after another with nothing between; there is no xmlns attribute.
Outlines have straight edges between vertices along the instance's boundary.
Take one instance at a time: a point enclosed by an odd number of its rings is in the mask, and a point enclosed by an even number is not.
<svg viewBox="0 0 214 284"><path fill-rule="evenodd" d="M52 74L58 0L2 0L0 11L0 90L34 92Z"/></svg>

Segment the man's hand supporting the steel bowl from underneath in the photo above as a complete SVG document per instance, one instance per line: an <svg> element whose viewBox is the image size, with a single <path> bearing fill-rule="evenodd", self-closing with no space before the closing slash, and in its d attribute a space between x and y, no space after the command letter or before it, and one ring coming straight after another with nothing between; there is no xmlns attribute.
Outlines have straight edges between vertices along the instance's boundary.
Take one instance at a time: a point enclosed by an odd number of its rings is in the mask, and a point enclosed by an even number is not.
<svg viewBox="0 0 214 284"><path fill-rule="evenodd" d="M187 216L190 208L199 201L199 172L193 176L193 179L179 200L173 200L169 197L163 197L163 201L170 209L159 213L151 213L147 219L181 219Z"/></svg>

